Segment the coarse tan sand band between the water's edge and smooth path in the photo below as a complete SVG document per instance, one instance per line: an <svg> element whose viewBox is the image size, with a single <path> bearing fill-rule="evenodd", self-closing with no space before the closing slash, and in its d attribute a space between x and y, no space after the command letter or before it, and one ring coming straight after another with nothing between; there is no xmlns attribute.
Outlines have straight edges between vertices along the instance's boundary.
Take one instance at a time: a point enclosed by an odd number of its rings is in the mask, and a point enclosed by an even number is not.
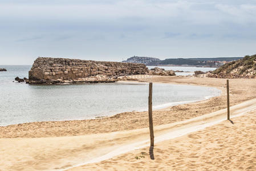
<svg viewBox="0 0 256 171"><path fill-rule="evenodd" d="M151 78L153 83L188 84L221 89L220 96L190 104L175 105L153 111L154 125L174 123L226 108L225 79ZM141 79L143 82L143 79ZM230 106L256 98L256 80L230 80ZM242 95L242 96L241 96ZM89 120L43 121L0 127L1 138L80 136L148 127L148 112L123 112L113 116ZM68 129L67 129L68 128Z"/></svg>

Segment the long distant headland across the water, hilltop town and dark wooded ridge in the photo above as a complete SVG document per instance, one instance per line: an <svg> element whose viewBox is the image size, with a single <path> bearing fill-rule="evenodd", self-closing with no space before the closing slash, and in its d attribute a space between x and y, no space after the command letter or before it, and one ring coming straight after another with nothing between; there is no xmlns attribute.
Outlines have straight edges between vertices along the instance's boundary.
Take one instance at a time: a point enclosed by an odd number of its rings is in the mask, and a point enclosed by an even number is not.
<svg viewBox="0 0 256 171"><path fill-rule="evenodd" d="M170 58L160 60L158 58L140 57L133 56L124 60L123 62L130 63L143 63L147 66L163 66L163 65L174 65L174 66L197 66L197 67L220 67L223 64L242 59L242 57L221 57L221 58Z"/></svg>

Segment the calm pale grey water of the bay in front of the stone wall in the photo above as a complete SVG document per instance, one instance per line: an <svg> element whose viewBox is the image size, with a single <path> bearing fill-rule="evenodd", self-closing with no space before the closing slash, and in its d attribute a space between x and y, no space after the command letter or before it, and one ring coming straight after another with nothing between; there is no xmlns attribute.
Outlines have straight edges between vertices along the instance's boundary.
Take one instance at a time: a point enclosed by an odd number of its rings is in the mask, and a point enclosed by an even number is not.
<svg viewBox="0 0 256 171"><path fill-rule="evenodd" d="M31 66L0 66L0 126L34 121L80 120L125 111L146 111L147 83L35 86L13 82ZM217 96L216 88L153 84L154 108Z"/></svg>

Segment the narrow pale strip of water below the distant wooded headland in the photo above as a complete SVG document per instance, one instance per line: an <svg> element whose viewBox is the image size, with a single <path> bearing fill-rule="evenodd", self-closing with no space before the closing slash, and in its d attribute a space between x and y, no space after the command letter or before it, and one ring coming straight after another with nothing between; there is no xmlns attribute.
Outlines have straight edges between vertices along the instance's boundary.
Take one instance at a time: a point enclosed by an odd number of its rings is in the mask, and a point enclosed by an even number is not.
<svg viewBox="0 0 256 171"><path fill-rule="evenodd" d="M186 71L186 72L176 72L175 73L176 75L193 75L194 71L207 72L207 71L214 71L217 69L217 68L209 68L209 67L148 66L149 69L155 68L155 67L164 68L165 70Z"/></svg>

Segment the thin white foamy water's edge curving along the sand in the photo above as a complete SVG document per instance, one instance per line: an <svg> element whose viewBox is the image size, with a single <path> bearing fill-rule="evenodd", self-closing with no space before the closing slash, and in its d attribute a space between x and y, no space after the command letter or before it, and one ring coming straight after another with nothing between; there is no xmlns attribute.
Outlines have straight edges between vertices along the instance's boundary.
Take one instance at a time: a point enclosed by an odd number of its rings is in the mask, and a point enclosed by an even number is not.
<svg viewBox="0 0 256 171"><path fill-rule="evenodd" d="M139 81L131 81L131 80L121 80L119 82L115 82L115 83L131 83L131 84L147 84L147 82L139 82ZM174 83L161 83L161 82L155 82L154 84L174 84ZM179 85L179 84L175 84L175 85ZM191 84L180 84L180 85L184 85L184 86L200 86L200 85L191 85ZM44 84L42 84L42 86L45 86ZM200 87L210 87L210 86L200 86ZM171 102L171 103L163 103L163 104L158 104L158 105L153 105L153 112L154 111L161 111L161 110L165 110L168 109L169 107L173 107L176 105L182 105L182 104L192 104L192 103L197 103L200 101L205 101L205 100L209 100L212 99L213 97L217 97L217 96L221 96L223 91L218 88L218 87L210 87L210 88L216 88L220 91L220 93L218 93L217 95L211 95L211 96L204 96L204 99L200 99L200 100L189 100L189 101L175 101L175 102ZM83 120L98 120L98 119L103 119L106 117L115 117L116 115L121 115L122 113L128 113L128 112L148 112L147 108L145 109L129 109L127 111L120 111L120 112L115 112L112 113L110 115L106 115L106 116L95 116L95 117L89 117L87 119L75 119L75 120L49 120L49 121L34 121L34 122L29 122L29 123L17 123L17 124L10 124L10 125L4 125L1 127L10 127L10 126L14 126L14 125L23 125L23 124L32 124L32 123L44 123L44 122L62 122L62 121L83 121Z"/></svg>

